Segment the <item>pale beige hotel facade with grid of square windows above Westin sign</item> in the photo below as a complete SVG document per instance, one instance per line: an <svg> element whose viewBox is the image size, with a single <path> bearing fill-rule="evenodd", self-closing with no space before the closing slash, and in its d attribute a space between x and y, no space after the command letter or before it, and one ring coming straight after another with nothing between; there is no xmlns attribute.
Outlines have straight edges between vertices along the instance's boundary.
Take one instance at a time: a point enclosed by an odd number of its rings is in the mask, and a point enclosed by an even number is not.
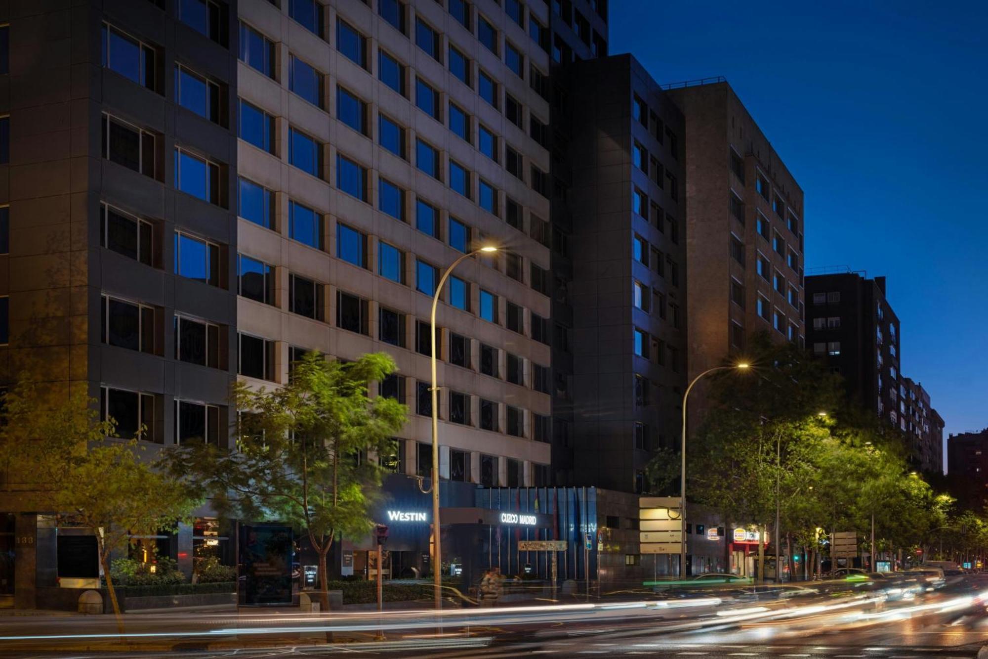
<svg viewBox="0 0 988 659"><path fill-rule="evenodd" d="M240 376L284 383L308 350L386 351L411 412L390 459L431 470L437 315L441 476L549 478L549 53L544 3L241 2ZM532 237L535 235L536 237Z"/></svg>

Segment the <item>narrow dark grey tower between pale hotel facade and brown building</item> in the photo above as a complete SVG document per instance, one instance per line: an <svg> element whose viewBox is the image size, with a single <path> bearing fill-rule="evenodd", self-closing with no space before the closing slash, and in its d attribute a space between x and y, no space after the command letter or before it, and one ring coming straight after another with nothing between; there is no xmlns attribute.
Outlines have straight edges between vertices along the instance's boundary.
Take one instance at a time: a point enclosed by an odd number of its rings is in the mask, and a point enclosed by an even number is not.
<svg viewBox="0 0 988 659"><path fill-rule="evenodd" d="M568 70L576 485L646 489L686 378L684 117L628 54Z"/></svg>

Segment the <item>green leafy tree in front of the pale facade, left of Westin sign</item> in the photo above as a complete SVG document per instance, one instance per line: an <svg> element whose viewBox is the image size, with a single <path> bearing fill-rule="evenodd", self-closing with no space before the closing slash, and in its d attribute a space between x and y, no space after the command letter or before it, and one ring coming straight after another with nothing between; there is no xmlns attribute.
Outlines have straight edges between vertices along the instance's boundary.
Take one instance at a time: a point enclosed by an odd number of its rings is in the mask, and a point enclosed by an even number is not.
<svg viewBox="0 0 988 659"><path fill-rule="evenodd" d="M172 472L211 497L218 513L278 519L306 533L319 556L324 611L326 555L341 534L371 530L369 509L383 471L371 458L390 455L392 437L405 424L404 405L368 395L369 382L394 370L383 352L346 363L310 352L293 364L285 386L234 385L241 411L236 451L194 444L172 454Z"/></svg>

